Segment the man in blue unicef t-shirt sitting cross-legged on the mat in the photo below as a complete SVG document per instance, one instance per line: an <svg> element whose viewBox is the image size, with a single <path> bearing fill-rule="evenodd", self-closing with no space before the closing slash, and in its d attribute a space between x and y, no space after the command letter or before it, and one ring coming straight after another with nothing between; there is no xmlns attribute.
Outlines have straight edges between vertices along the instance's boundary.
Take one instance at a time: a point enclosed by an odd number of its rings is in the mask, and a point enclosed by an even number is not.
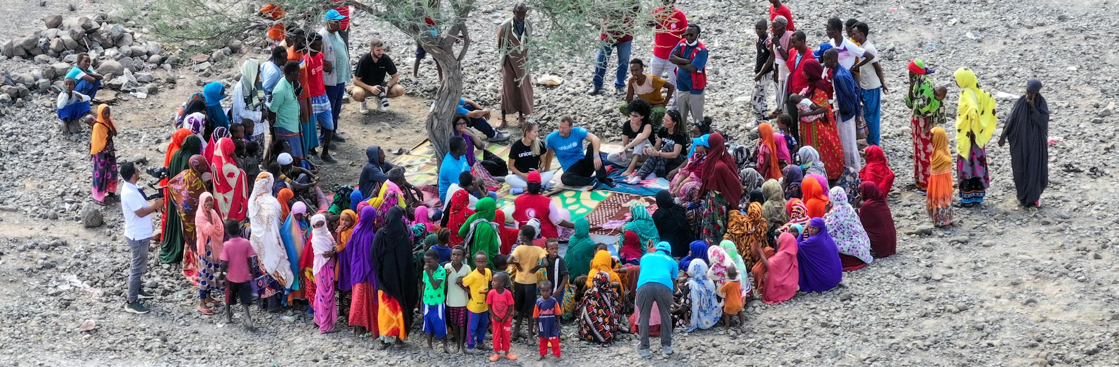
<svg viewBox="0 0 1119 367"><path fill-rule="evenodd" d="M563 167L563 176L560 181L567 186L587 186L595 181L602 185L614 187L613 179L606 177L605 166L602 164L604 158L600 153L601 141L599 137L583 128L574 126L575 121L571 116L560 119L560 131L552 132L545 139L545 147L548 154L555 154ZM583 141L591 142L583 149ZM551 157L551 156L549 156ZM594 177L591 177L594 175Z"/></svg>

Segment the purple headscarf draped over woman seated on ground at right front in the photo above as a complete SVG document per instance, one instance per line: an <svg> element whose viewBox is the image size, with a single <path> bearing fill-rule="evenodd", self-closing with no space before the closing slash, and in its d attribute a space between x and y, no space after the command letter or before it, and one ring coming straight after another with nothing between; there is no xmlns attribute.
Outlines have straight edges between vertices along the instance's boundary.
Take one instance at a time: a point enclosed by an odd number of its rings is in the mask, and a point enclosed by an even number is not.
<svg viewBox="0 0 1119 367"><path fill-rule="evenodd" d="M843 280L843 263L839 261L839 250L828 234L824 219L817 217L808 223L820 229L808 236L807 230L797 238L797 263L800 271L801 292L825 292L839 284Z"/></svg>

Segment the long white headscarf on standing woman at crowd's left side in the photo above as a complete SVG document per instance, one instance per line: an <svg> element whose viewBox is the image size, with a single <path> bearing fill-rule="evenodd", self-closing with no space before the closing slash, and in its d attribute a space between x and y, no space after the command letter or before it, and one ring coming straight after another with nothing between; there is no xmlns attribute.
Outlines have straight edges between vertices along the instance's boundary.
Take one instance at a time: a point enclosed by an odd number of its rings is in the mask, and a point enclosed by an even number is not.
<svg viewBox="0 0 1119 367"><path fill-rule="evenodd" d="M272 196L272 173L261 172L248 197L248 242L256 251L264 270L283 285L291 284L295 276L291 272L288 252L280 242L280 201Z"/></svg>

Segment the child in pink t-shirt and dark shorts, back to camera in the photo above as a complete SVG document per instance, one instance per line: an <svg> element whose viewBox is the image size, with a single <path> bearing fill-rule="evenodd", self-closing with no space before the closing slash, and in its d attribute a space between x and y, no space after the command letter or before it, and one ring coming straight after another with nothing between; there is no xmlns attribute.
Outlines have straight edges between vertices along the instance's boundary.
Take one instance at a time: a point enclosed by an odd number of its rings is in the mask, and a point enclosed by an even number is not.
<svg viewBox="0 0 1119 367"><path fill-rule="evenodd" d="M250 261L256 252L248 239L241 237L241 224L237 220L225 220L225 235L229 239L222 247L222 273L225 274L225 322L233 322L233 305L241 302L245 309L245 328L254 329L253 317L248 314L248 305L253 303L253 288L248 282L252 276L248 270Z"/></svg>

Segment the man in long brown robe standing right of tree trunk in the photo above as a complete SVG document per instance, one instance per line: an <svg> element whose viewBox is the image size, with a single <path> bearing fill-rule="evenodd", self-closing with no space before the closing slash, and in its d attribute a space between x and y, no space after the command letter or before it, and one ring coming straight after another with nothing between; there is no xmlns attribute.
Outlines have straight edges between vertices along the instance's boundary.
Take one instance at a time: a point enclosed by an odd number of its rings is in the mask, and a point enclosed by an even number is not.
<svg viewBox="0 0 1119 367"><path fill-rule="evenodd" d="M533 25L525 19L528 3L518 1L513 6L513 18L506 19L497 29L497 47L501 51L501 126L505 115L517 113L519 123L533 113L533 78L525 64L528 62L528 43L533 36Z"/></svg>

